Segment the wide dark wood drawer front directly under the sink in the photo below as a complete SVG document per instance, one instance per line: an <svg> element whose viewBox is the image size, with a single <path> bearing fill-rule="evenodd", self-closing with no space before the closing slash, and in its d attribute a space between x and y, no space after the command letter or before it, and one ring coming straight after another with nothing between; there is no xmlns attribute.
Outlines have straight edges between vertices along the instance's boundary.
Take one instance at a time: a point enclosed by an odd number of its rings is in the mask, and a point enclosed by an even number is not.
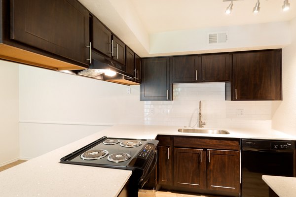
<svg viewBox="0 0 296 197"><path fill-rule="evenodd" d="M238 140L175 137L174 147L239 150Z"/></svg>

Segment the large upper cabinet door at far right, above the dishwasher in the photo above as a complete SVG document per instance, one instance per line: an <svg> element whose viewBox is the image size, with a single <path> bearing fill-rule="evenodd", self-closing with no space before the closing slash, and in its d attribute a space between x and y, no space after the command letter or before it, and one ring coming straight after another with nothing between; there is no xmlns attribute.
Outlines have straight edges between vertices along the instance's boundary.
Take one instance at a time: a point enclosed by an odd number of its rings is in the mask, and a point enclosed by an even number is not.
<svg viewBox="0 0 296 197"><path fill-rule="evenodd" d="M281 100L281 50L233 54L233 100Z"/></svg>

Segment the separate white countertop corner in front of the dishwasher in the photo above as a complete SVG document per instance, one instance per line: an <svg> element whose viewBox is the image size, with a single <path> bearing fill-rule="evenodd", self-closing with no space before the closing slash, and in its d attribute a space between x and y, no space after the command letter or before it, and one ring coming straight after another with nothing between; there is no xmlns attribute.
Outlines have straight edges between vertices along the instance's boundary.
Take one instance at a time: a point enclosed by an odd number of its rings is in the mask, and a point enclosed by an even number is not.
<svg viewBox="0 0 296 197"><path fill-rule="evenodd" d="M296 177L263 175L262 179L279 197L296 196Z"/></svg>

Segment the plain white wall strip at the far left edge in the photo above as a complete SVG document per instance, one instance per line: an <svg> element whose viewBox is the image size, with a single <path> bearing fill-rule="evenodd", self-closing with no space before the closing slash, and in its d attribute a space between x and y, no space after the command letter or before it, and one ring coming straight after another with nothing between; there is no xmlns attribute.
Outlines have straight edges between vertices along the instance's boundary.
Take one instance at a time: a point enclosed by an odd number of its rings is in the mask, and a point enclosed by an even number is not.
<svg viewBox="0 0 296 197"><path fill-rule="evenodd" d="M18 65L0 61L0 165L19 158Z"/></svg>

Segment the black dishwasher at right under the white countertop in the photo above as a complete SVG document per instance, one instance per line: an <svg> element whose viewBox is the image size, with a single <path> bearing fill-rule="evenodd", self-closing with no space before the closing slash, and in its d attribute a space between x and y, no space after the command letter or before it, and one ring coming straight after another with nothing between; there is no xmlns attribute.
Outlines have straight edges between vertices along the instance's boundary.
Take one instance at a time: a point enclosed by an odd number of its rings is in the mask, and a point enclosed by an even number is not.
<svg viewBox="0 0 296 197"><path fill-rule="evenodd" d="M262 175L295 176L295 141L242 139L242 197L268 197Z"/></svg>

